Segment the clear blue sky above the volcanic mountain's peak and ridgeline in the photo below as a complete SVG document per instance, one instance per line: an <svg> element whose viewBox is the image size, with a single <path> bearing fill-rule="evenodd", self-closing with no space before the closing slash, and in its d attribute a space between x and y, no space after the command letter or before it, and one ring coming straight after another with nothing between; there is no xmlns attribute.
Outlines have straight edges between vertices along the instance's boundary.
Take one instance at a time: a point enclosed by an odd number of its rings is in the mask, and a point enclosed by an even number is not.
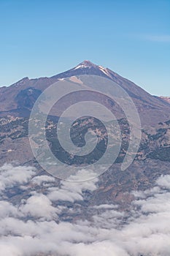
<svg viewBox="0 0 170 256"><path fill-rule="evenodd" d="M170 96L170 0L0 0L0 86L83 60Z"/></svg>

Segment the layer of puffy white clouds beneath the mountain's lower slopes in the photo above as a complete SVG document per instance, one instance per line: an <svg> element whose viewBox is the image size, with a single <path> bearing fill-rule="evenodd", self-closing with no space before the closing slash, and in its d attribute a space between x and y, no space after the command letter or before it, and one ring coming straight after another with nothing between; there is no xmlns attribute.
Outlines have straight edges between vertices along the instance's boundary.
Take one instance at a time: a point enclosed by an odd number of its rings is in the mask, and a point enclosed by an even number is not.
<svg viewBox="0 0 170 256"><path fill-rule="evenodd" d="M134 192L129 213L114 205L99 205L91 221L59 222L66 209L59 201L77 203L83 191L97 189L96 182L61 181L35 176L31 167L4 165L0 169L0 256L168 256L170 248L170 176L161 176L155 187ZM81 173L79 173L81 175ZM45 181L47 187L35 191ZM25 199L7 198L7 189L23 185L32 189ZM24 191L23 191L24 192ZM4 193L4 194L3 194ZM16 195L18 196L18 195Z"/></svg>

